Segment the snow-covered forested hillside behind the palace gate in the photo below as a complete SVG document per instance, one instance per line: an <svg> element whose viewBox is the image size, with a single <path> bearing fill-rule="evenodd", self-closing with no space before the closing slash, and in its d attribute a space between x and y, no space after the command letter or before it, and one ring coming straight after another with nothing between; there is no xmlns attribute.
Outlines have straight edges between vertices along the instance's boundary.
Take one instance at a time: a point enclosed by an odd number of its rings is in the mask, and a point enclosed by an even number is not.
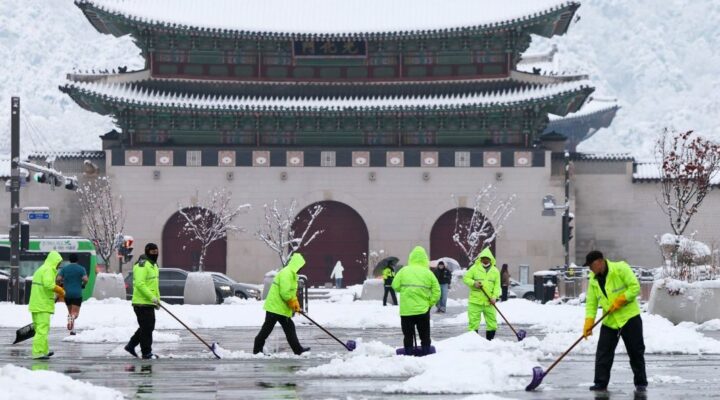
<svg viewBox="0 0 720 400"><path fill-rule="evenodd" d="M252 1L252 0L250 0ZM558 70L590 74L622 109L583 151L651 154L663 127L720 137L720 0L584 0L557 45ZM58 85L67 72L142 66L128 38L97 33L72 0L0 0L0 153L9 149L10 97L22 98L25 151L99 149L109 117L84 111Z"/></svg>

